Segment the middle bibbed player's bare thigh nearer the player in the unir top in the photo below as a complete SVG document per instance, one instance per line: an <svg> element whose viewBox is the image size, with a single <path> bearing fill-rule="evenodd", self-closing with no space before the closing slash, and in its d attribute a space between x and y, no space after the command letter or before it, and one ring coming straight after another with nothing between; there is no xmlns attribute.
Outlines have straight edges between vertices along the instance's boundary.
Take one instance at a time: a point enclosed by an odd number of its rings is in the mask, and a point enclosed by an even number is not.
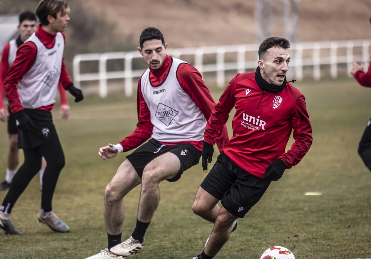
<svg viewBox="0 0 371 259"><path fill-rule="evenodd" d="M143 181L161 182L174 178L180 171L180 160L171 152L164 153L149 162L143 171Z"/></svg>

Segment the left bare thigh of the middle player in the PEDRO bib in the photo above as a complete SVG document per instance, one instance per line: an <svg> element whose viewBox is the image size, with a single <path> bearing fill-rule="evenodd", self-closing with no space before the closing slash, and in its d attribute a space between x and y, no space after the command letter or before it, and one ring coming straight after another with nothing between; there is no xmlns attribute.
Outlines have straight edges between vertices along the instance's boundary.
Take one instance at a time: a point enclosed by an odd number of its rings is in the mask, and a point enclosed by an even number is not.
<svg viewBox="0 0 371 259"><path fill-rule="evenodd" d="M128 159L119 166L106 191L124 197L130 190L141 183L137 172Z"/></svg>

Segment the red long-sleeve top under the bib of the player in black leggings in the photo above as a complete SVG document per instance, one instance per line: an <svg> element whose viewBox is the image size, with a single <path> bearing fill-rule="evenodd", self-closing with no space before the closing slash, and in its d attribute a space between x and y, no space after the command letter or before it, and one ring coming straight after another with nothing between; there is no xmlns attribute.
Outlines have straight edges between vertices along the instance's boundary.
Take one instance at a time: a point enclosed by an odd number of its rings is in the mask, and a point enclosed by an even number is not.
<svg viewBox="0 0 371 259"><path fill-rule="evenodd" d="M47 48L50 48L54 45L55 35L50 34L47 31L43 30L40 25L37 28L36 36L42 41L42 43ZM65 37L64 34L63 34L63 37ZM36 59L36 54L37 54L37 48L35 44L29 41L26 43L23 43L18 48L16 59L14 60L12 66L9 69L9 73L6 76L6 80L4 82L4 88L5 88L6 98L9 102L10 110L13 113L24 109L19 99L19 94L17 91L17 84L22 79L23 75L26 74L27 71L29 71L30 68L32 67ZM1 59L3 59L3 57ZM4 72L2 70L1 75L3 73ZM59 79L59 88L60 86L62 86L63 89L66 89L66 87L69 84L72 84L72 80L70 76L68 75L67 68L64 62L62 61L62 69L60 71L60 79ZM2 85L1 82L0 82L0 85ZM47 106L39 107L36 110L47 110L50 112L53 107L54 107L54 104L50 104Z"/></svg>

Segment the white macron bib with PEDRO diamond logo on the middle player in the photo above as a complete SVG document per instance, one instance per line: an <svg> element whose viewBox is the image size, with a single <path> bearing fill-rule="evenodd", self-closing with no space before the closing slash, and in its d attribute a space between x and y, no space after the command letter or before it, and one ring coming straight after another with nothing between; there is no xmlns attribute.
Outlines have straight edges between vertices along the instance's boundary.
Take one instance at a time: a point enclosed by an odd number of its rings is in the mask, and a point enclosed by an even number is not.
<svg viewBox="0 0 371 259"><path fill-rule="evenodd" d="M154 125L152 138L162 142L203 140L205 117L177 79L179 65L186 62L171 59L167 78L161 85L151 85L150 69L141 78L141 91Z"/></svg>

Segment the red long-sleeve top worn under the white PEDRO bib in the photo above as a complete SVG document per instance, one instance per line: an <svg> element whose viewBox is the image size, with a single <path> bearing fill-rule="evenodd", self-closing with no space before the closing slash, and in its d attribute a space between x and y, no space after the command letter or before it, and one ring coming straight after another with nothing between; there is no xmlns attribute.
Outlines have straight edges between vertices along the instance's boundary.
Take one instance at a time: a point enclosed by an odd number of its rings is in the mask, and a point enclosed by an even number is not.
<svg viewBox="0 0 371 259"><path fill-rule="evenodd" d="M156 87L161 85L167 78L170 70L171 58L166 55L165 61L159 70L150 70L151 85ZM200 108L206 121L209 120L211 112L215 106L215 102L211 97L209 89L202 80L201 74L198 70L190 64L180 64L177 70L177 78L181 88L187 92L190 98ZM175 86L174 86L175 87ZM147 103L144 100L141 92L141 78L138 81L137 92L137 109L138 109L138 123L135 130L126 138L122 139L119 144L124 149L123 152L134 149L147 141L151 137L153 124L151 123L151 114ZM227 127L221 127L220 134L216 136L216 142L219 151L222 152L224 145L228 142ZM181 142L161 142L165 145L174 145L180 143L188 143L194 145L198 150L202 149L202 141L181 141Z"/></svg>

